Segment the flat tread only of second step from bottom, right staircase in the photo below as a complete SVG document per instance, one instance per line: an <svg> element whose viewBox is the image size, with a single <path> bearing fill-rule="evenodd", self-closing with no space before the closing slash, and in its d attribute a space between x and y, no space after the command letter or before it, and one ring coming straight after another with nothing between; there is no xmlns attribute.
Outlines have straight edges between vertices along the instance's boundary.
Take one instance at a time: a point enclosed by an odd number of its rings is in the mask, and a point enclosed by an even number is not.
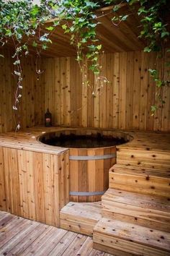
<svg viewBox="0 0 170 256"><path fill-rule="evenodd" d="M156 195L141 195L140 193L126 192L119 189L107 189L107 192L102 196L102 202L104 200L161 211L161 214L165 212L170 218L170 198Z"/></svg>

